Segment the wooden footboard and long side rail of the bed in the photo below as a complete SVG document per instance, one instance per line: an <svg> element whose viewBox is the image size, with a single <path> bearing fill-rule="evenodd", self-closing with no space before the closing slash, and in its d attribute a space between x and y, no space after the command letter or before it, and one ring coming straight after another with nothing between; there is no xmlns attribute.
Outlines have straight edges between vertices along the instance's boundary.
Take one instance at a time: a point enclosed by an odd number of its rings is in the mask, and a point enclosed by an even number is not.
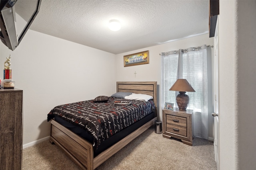
<svg viewBox="0 0 256 170"><path fill-rule="evenodd" d="M95 158L93 158L93 147L91 143L79 137L53 119L51 120L50 142L55 143L64 150L64 152L83 170L93 170L138 137L141 133L146 131L146 129L154 125L156 119L157 117L150 120L148 123L144 124L112 147L106 149Z"/></svg>

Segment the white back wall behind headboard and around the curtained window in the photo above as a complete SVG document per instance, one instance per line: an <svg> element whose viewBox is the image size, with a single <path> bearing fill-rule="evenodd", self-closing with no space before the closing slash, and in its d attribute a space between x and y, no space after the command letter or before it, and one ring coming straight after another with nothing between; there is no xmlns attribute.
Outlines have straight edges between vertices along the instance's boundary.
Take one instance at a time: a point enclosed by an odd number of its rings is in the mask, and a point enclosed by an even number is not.
<svg viewBox="0 0 256 170"><path fill-rule="evenodd" d="M186 49L188 47L197 47L200 45L214 45L214 38L209 38L208 34L198 35L195 37L185 38L169 43L156 45L136 51L129 51L116 55L116 81L157 81L158 84L158 113L159 119L162 120L162 107L164 101L162 100L161 92L161 52L168 52L177 49ZM212 50L213 48L208 48ZM149 50L149 64L142 64L137 66L124 67L124 55L138 53ZM136 71L136 77L134 72ZM211 80L210 80L211 81ZM213 90L212 90L213 91ZM175 101L174 101L175 102ZM212 104L213 106L213 104ZM209 137L213 138L213 117L209 113Z"/></svg>

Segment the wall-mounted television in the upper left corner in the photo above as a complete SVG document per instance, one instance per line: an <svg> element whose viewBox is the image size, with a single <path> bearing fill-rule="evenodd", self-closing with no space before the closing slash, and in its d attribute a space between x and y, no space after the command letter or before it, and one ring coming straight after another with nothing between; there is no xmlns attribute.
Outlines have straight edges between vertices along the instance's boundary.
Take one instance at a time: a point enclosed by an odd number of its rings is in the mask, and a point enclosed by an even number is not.
<svg viewBox="0 0 256 170"><path fill-rule="evenodd" d="M36 18L41 0L0 0L0 39L14 51Z"/></svg>

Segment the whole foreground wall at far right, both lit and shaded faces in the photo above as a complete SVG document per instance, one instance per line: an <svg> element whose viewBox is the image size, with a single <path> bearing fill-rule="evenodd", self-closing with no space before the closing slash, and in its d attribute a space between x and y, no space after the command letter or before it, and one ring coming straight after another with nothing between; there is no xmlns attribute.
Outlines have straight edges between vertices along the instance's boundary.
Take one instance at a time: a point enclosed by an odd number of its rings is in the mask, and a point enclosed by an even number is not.
<svg viewBox="0 0 256 170"><path fill-rule="evenodd" d="M256 1L220 1L220 169L256 168Z"/></svg>

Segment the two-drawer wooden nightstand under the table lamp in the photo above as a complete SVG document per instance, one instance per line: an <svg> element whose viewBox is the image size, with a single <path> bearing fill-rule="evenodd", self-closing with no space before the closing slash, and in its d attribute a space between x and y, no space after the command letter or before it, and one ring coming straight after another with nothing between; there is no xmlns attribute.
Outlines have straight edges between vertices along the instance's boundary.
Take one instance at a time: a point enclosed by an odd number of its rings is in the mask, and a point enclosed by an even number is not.
<svg viewBox="0 0 256 170"><path fill-rule="evenodd" d="M183 143L192 146L192 113L190 109L163 109L163 137L181 139Z"/></svg>

